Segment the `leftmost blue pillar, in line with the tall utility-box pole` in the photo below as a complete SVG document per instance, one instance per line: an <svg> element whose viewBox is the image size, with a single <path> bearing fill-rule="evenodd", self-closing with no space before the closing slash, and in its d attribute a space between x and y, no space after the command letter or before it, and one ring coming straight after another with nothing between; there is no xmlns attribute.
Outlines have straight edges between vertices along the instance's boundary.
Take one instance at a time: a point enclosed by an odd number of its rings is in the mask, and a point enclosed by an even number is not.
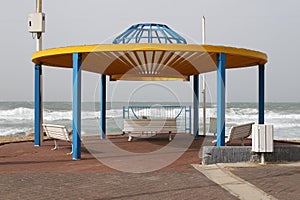
<svg viewBox="0 0 300 200"><path fill-rule="evenodd" d="M41 145L42 131L42 86L41 86L42 66L34 66L34 146Z"/></svg>

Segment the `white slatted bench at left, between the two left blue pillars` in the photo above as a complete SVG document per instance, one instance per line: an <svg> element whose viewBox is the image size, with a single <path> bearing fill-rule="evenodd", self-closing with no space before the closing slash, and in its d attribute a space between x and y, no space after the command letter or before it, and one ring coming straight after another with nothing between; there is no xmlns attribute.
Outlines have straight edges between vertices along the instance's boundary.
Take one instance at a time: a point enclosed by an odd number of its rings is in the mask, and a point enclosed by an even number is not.
<svg viewBox="0 0 300 200"><path fill-rule="evenodd" d="M56 140L63 140L63 141L70 142L72 144L72 133L68 131L65 126L43 124L43 128L44 131L46 132L46 135L49 138L54 139L54 148L52 148L51 150L58 149ZM68 154L72 154L72 152Z"/></svg>

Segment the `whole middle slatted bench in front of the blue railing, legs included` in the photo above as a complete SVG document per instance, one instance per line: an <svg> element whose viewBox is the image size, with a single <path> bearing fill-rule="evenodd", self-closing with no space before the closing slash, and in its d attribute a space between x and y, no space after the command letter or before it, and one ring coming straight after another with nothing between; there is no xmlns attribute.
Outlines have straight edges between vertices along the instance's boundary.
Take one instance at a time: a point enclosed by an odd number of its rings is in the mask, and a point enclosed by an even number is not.
<svg viewBox="0 0 300 200"><path fill-rule="evenodd" d="M128 141L133 137L149 138L157 134L176 133L176 119L125 119L123 133L128 133Z"/></svg>

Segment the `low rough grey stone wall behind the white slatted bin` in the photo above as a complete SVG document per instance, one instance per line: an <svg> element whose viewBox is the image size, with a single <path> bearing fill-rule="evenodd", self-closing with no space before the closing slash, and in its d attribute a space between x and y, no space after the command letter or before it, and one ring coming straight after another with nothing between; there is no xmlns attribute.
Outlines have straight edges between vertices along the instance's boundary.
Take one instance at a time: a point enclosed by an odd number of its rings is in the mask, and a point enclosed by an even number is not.
<svg viewBox="0 0 300 200"><path fill-rule="evenodd" d="M259 162L261 153L251 146L203 146L202 164ZM300 161L300 146L274 146L274 152L265 153L266 162Z"/></svg>

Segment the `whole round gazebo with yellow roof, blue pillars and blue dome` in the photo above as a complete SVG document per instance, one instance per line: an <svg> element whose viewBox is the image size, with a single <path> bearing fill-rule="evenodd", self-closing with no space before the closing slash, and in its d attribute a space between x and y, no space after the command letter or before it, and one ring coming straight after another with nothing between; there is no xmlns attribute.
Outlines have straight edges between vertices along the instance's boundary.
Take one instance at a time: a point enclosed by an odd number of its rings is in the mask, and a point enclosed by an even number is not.
<svg viewBox="0 0 300 200"><path fill-rule="evenodd" d="M228 46L187 44L163 24L137 24L113 44L46 49L32 55L35 64L34 145L40 146L42 65L73 70L73 159L81 158L81 71L100 74L100 138L106 136L106 76L110 81L190 81L193 76L193 134L199 129L199 74L217 71L217 146L225 143L226 70L258 66L258 123L264 124L264 72L267 55Z"/></svg>

